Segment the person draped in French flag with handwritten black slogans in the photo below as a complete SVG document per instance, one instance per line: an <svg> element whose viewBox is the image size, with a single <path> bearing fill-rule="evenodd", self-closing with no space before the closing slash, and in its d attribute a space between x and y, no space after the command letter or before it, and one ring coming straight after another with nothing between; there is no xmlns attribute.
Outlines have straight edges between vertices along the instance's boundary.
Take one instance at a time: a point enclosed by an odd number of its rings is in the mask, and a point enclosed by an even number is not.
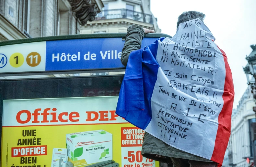
<svg viewBox="0 0 256 167"><path fill-rule="evenodd" d="M175 167L221 166L230 136L232 74L204 17L184 12L173 38L142 49L154 31L130 26L122 50L116 113L145 130L144 157Z"/></svg>

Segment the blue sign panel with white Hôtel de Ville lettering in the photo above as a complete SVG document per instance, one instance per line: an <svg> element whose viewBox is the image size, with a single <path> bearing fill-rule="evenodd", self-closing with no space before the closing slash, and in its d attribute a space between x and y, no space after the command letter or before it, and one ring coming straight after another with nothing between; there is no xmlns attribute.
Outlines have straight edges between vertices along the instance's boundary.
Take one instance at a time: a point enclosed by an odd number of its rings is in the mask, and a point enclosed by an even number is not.
<svg viewBox="0 0 256 167"><path fill-rule="evenodd" d="M142 47L158 38L144 38ZM90 38L46 42L45 71L123 68L122 38Z"/></svg>

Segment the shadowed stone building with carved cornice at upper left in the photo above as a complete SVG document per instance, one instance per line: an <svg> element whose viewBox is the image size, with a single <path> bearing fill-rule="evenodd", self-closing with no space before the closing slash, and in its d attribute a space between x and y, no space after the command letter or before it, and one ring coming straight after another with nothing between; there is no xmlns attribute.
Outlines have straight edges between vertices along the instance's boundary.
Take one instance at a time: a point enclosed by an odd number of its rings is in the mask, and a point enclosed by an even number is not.
<svg viewBox="0 0 256 167"><path fill-rule="evenodd" d="M102 7L101 0L1 0L0 41L79 34Z"/></svg>

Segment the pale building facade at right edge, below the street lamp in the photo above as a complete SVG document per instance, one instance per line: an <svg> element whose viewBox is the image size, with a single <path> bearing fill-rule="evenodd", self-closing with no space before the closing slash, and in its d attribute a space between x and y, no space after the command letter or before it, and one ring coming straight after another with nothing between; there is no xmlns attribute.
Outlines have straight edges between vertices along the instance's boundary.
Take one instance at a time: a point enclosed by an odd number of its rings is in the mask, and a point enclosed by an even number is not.
<svg viewBox="0 0 256 167"><path fill-rule="evenodd" d="M231 136L228 143L229 165L247 167L246 159L253 162L253 129L255 127L255 113L252 108L255 101L249 86L233 110L231 119Z"/></svg>

